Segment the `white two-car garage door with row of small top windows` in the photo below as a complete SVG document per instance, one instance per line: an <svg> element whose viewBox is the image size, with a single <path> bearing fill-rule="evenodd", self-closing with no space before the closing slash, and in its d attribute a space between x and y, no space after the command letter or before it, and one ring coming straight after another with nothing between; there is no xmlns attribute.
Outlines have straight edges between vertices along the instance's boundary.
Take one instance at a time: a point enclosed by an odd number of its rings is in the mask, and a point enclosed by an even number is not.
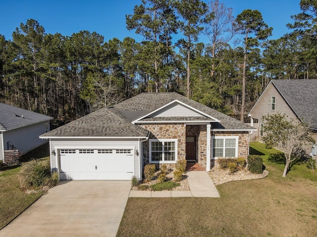
<svg viewBox="0 0 317 237"><path fill-rule="evenodd" d="M130 180L133 149L59 149L61 180Z"/></svg>

